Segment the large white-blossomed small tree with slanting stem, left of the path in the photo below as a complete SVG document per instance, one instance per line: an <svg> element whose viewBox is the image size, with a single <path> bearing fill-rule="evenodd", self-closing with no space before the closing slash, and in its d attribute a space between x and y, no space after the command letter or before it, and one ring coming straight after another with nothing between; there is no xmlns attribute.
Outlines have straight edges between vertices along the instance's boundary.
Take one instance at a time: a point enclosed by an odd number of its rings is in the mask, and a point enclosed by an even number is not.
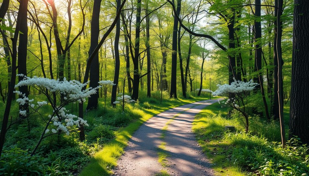
<svg viewBox="0 0 309 176"><path fill-rule="evenodd" d="M62 133L69 135L70 132L78 131L79 127L83 125L88 125L87 121L68 113L69 111L66 110L64 106L76 101L86 101L86 98L91 96L92 94L95 94L96 90L99 87L87 88L85 90L82 90L82 88L88 83L82 84L76 80L67 81L66 78L64 78L63 81L60 81L36 76L32 78L27 76L23 77L24 79L18 84L16 84L15 88L25 85L33 87L34 89L38 90L40 93L46 96L50 106L53 108L53 113L48 116L48 119L41 116L46 122L46 125L31 155L36 152L36 149L45 137L53 134L60 135ZM42 106L47 105L47 101L37 101L35 104L33 99L30 100L22 92L16 91L16 93L18 93L19 95L23 95L23 98L19 98L16 101L21 105L28 104L29 107L32 109L29 112L39 113L39 109ZM23 109L20 110L19 113L23 116L30 115L30 113L27 113L27 111Z"/></svg>

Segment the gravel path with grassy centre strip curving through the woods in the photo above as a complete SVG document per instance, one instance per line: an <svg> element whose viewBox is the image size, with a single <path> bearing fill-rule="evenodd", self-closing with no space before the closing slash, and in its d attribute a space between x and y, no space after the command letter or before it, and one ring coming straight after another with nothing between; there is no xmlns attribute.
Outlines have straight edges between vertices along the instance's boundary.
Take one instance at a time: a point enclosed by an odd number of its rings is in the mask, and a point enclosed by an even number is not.
<svg viewBox="0 0 309 176"><path fill-rule="evenodd" d="M150 176L161 170L175 176L214 175L192 132L192 122L197 113L215 102L218 99L185 104L146 121L129 140L114 175ZM165 167L158 162L158 151L162 151L158 147L163 145L168 153Z"/></svg>

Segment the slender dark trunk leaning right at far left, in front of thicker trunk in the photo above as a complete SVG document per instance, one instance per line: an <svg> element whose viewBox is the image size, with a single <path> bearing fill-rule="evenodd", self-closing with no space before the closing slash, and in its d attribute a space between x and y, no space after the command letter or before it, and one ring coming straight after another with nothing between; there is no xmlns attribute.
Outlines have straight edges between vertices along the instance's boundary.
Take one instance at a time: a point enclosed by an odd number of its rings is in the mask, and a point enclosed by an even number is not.
<svg viewBox="0 0 309 176"><path fill-rule="evenodd" d="M21 25L21 22L23 21L22 18L27 18L27 15L26 16L22 15L23 12L25 11L27 13L27 8L28 8L28 0L24 0L19 3L19 9L18 9L16 26L15 26L15 33L14 33L14 37L12 38L12 53L11 53L12 75L11 75L11 84L9 86L9 91L8 91L8 95L6 99L6 107L5 107L4 115L3 115L2 127L0 131L0 158L1 158L4 141L5 141L7 124L9 121L9 115L10 115L12 98L13 98L13 91L14 91L14 86L15 86L15 81L16 81L17 40L18 40L20 25Z"/></svg>

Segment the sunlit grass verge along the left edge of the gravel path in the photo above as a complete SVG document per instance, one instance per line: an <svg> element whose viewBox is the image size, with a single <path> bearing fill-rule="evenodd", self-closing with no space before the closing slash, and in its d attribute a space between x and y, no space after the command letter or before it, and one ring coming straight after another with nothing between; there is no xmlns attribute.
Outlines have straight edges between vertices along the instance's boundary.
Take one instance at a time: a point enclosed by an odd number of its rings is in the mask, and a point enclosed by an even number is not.
<svg viewBox="0 0 309 176"><path fill-rule="evenodd" d="M112 173L111 168L117 165L117 159L122 155L129 139L140 125L142 125L145 121L154 115L159 114L165 110L200 100L205 100L205 98L164 100L162 104L160 104L158 101L147 101L147 105L150 105L151 108L136 108L134 110L135 114L137 114L140 118L138 118L136 121L133 121L126 127L117 130L115 132L115 138L107 142L102 150L94 154L90 163L80 173L80 176L110 175ZM129 108L134 109L134 107Z"/></svg>

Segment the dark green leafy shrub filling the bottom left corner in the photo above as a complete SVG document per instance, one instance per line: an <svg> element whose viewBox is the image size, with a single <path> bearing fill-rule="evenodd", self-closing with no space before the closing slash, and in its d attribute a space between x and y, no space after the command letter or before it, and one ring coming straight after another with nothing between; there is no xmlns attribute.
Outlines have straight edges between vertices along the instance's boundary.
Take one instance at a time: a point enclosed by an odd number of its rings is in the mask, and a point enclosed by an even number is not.
<svg viewBox="0 0 309 176"><path fill-rule="evenodd" d="M0 160L0 175L42 175L43 168L38 162L40 159L16 147L4 150Z"/></svg>

